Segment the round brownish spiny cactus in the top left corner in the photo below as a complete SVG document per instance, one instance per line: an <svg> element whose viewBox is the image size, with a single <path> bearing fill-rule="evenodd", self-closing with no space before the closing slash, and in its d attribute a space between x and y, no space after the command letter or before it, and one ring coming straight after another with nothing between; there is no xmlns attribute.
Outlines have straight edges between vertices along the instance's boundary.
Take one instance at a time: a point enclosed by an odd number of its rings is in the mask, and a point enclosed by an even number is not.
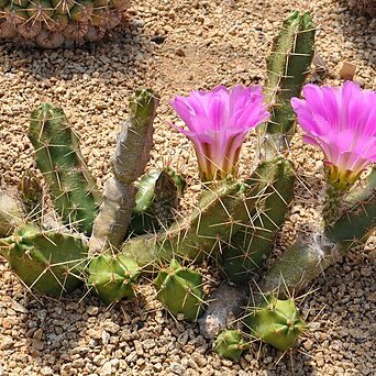
<svg viewBox="0 0 376 376"><path fill-rule="evenodd" d="M65 42L98 41L122 21L128 0L2 0L0 38L57 48Z"/></svg>

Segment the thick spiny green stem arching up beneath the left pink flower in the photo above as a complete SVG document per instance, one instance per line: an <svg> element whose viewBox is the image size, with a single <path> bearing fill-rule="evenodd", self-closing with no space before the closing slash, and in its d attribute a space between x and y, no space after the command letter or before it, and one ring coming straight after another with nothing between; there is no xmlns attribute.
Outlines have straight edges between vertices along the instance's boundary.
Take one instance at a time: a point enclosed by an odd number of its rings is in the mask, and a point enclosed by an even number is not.
<svg viewBox="0 0 376 376"><path fill-rule="evenodd" d="M221 247L231 244L231 237L247 226L250 213L270 183L264 177L268 176L270 165L277 161L279 158L261 164L253 174L251 186L233 180L211 185L202 192L190 215L156 235L131 239L123 245L122 252L143 267L169 261L173 256L192 261L210 255L217 257Z"/></svg>

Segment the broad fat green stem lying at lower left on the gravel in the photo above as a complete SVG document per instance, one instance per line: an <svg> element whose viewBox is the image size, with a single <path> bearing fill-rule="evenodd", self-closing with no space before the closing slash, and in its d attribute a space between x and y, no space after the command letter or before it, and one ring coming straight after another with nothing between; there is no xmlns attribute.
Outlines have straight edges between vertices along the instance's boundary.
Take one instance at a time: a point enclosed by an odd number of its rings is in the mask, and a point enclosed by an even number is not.
<svg viewBox="0 0 376 376"><path fill-rule="evenodd" d="M78 235L27 224L0 241L0 254L26 286L58 298L81 284L87 246Z"/></svg>

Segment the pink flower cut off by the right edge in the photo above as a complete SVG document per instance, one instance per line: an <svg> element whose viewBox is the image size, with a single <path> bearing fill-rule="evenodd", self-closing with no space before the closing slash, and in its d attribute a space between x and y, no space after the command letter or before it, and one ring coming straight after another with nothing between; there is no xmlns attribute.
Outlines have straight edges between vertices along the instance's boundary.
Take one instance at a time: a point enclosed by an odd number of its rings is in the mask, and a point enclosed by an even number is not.
<svg viewBox="0 0 376 376"><path fill-rule="evenodd" d="M352 81L343 87L303 87L306 100L291 99L303 141L324 153L327 174L340 189L376 162L376 92Z"/></svg>

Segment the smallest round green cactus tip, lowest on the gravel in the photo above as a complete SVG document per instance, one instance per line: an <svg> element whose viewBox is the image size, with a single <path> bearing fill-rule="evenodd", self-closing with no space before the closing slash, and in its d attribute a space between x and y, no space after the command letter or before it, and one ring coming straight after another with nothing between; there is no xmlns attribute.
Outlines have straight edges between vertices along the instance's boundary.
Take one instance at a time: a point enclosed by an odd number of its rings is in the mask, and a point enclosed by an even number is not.
<svg viewBox="0 0 376 376"><path fill-rule="evenodd" d="M214 342L215 352L223 357L239 361L250 343L245 342L242 332L239 330L224 330L218 335Z"/></svg>

